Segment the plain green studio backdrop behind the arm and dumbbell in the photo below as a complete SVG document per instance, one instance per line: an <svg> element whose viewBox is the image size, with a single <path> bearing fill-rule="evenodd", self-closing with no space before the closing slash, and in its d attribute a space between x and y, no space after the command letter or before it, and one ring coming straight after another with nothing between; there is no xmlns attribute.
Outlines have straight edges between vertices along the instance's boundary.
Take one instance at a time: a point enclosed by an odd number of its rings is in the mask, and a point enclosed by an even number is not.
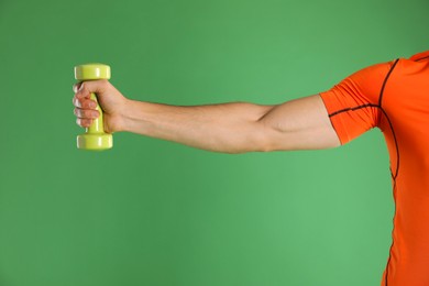
<svg viewBox="0 0 429 286"><path fill-rule="evenodd" d="M135 134L76 148L73 67L129 98L280 103L425 51L427 0L0 1L0 285L378 285L380 131L227 155Z"/></svg>

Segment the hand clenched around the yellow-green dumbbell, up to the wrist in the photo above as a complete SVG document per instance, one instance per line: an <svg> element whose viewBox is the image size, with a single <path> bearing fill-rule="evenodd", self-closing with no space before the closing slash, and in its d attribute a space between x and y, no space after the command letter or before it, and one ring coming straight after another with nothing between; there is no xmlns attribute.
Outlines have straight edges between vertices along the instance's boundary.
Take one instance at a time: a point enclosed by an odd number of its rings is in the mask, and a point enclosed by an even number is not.
<svg viewBox="0 0 429 286"><path fill-rule="evenodd" d="M103 111L105 132L113 133L123 131L123 117L128 99L119 92L108 80L90 80L73 86L75 97L76 123L79 127L88 128L100 113L96 110L97 102L90 99L94 92L97 95L98 103Z"/></svg>

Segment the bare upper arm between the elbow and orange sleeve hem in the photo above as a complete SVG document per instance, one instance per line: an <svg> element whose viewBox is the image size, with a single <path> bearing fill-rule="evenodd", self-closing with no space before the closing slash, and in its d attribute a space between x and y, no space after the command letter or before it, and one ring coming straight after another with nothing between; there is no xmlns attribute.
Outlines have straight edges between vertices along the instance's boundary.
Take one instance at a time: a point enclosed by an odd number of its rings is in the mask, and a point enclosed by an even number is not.
<svg viewBox="0 0 429 286"><path fill-rule="evenodd" d="M268 150L320 150L340 145L319 95L273 107L258 121Z"/></svg>

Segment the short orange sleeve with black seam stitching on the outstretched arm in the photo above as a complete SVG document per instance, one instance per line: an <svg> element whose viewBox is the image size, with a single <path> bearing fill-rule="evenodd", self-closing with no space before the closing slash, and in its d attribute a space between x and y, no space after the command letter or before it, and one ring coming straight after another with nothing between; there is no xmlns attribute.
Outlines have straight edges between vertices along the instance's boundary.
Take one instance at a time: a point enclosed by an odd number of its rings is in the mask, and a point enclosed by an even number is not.
<svg viewBox="0 0 429 286"><path fill-rule="evenodd" d="M320 94L341 144L378 127L380 97L392 65L389 62L366 67Z"/></svg>

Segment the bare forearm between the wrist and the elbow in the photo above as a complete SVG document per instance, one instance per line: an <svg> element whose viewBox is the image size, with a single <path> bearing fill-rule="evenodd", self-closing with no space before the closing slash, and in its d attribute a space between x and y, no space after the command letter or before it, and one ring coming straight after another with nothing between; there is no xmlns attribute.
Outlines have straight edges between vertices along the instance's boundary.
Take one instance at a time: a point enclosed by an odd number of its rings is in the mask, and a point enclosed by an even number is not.
<svg viewBox="0 0 429 286"><path fill-rule="evenodd" d="M264 151L260 119L272 108L243 102L176 107L131 100L123 130L215 152Z"/></svg>

